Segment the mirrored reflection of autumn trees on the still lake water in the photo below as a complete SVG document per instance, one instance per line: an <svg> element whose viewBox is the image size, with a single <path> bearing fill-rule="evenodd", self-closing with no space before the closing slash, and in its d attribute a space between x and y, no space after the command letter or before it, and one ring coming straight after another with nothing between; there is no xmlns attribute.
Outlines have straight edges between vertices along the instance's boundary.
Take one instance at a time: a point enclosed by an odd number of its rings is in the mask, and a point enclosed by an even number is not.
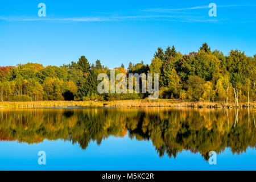
<svg viewBox="0 0 256 182"><path fill-rule="evenodd" d="M27 109L0 111L0 140L37 143L70 140L85 149L109 136L151 140L159 156L178 152L240 154L255 147L254 114L250 110L213 109Z"/></svg>

